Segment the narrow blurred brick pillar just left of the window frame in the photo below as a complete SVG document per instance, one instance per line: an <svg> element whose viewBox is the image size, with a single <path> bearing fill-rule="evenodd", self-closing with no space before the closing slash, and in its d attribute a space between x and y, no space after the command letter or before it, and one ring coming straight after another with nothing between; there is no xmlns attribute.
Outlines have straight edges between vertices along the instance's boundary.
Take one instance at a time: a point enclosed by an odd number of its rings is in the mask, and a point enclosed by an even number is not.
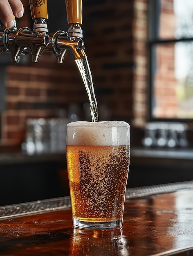
<svg viewBox="0 0 193 256"><path fill-rule="evenodd" d="M148 0L135 0L132 24L134 50L133 125L144 127L147 119L148 88Z"/></svg>

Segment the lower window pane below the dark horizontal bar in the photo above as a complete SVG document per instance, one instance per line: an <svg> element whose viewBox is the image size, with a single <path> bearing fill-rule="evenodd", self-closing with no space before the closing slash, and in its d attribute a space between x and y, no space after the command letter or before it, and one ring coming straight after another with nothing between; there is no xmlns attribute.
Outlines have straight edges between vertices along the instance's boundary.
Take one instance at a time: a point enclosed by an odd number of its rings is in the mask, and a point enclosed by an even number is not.
<svg viewBox="0 0 193 256"><path fill-rule="evenodd" d="M154 48L154 118L193 118L193 41Z"/></svg>

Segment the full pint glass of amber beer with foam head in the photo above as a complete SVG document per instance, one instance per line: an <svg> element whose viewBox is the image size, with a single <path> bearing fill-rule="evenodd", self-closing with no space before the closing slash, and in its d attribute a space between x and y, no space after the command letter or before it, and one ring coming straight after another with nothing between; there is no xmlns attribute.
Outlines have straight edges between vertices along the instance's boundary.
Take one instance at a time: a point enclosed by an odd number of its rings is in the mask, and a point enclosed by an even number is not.
<svg viewBox="0 0 193 256"><path fill-rule="evenodd" d="M120 228L130 161L124 121L67 124L67 171L73 226Z"/></svg>

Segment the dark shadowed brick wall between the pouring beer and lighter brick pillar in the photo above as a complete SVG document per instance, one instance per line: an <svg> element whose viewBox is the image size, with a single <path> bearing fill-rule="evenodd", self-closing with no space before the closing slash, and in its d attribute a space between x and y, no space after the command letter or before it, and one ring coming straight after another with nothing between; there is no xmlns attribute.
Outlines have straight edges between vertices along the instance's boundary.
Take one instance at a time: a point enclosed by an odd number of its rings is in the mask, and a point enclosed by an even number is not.
<svg viewBox="0 0 193 256"><path fill-rule="evenodd" d="M99 103L99 119L100 105L110 109L112 119L129 121L132 117L132 19L133 1L85 1L83 28L88 31L86 52Z"/></svg>

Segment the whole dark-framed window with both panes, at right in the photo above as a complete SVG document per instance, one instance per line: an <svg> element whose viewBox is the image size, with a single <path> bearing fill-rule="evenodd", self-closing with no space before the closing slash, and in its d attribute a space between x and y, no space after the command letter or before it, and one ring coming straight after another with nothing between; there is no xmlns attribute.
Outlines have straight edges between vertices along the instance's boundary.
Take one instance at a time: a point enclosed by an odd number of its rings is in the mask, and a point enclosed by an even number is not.
<svg viewBox="0 0 193 256"><path fill-rule="evenodd" d="M149 6L150 119L193 121L193 2Z"/></svg>

